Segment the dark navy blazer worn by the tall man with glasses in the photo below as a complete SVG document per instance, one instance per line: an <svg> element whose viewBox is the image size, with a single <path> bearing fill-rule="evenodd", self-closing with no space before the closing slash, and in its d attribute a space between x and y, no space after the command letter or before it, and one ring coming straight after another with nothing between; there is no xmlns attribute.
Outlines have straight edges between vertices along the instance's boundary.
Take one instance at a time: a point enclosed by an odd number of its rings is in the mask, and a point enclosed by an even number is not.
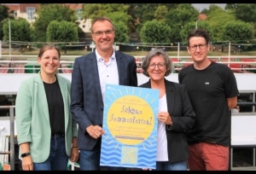
<svg viewBox="0 0 256 174"><path fill-rule="evenodd" d="M115 52L115 56L119 85L137 87L135 58L118 51ZM90 125L102 126L104 108L95 51L74 61L70 106L73 119L79 125L78 146L84 150L91 150L98 139L92 138L86 128Z"/></svg>

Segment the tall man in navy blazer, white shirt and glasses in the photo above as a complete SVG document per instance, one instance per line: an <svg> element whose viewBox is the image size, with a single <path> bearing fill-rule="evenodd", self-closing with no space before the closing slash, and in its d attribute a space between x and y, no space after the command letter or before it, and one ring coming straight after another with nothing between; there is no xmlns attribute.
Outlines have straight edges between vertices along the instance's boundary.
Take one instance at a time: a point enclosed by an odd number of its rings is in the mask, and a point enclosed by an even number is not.
<svg viewBox="0 0 256 174"><path fill-rule="evenodd" d="M131 55L113 50L115 28L106 17L91 26L96 50L74 61L71 113L79 125L80 170L100 170L103 104L106 84L137 86L137 65ZM113 168L111 170L124 170Z"/></svg>

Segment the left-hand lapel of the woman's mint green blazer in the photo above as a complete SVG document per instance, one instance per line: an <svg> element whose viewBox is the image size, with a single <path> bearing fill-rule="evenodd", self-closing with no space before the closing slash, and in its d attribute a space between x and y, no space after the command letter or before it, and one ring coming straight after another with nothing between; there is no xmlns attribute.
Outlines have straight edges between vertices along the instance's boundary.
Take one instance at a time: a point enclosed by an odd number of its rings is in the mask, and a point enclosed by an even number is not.
<svg viewBox="0 0 256 174"><path fill-rule="evenodd" d="M42 78L40 77L40 72L35 77L34 82L35 82L36 94L38 95L38 99L39 99L42 109L44 111L45 119L49 122L48 102L47 102L47 97L46 97L46 93L44 90L44 82L43 82Z"/></svg>

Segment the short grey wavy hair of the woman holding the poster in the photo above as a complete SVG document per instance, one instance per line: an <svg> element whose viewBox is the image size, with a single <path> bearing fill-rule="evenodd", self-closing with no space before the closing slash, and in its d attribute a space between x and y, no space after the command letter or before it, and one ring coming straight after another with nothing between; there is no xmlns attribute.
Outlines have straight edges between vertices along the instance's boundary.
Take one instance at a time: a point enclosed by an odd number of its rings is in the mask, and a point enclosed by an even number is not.
<svg viewBox="0 0 256 174"><path fill-rule="evenodd" d="M168 76L170 73L172 73L173 71L173 64L172 61L170 60L169 55L166 54L166 52L163 49L152 49L151 51L148 52L148 55L146 55L143 58L143 74L147 77L149 77L148 74L148 66L149 66L149 62L151 60L152 57L157 56L157 55L163 55L165 61L166 61L166 74L165 76Z"/></svg>

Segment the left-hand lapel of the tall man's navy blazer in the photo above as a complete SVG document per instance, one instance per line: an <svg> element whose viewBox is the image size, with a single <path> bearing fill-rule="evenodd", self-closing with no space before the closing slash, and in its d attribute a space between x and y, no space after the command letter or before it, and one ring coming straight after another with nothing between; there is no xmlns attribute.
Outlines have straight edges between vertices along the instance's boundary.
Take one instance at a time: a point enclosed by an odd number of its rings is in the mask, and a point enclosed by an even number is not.
<svg viewBox="0 0 256 174"><path fill-rule="evenodd" d="M102 105L103 105L103 99L102 99L102 89L101 89L101 84L100 84L100 78L99 78L99 72L98 72L98 65L97 65L97 59L96 59L96 53L92 54L90 56L90 64L91 65L91 76L93 79L93 83L95 84L96 91L98 94L98 97L102 100Z"/></svg>

